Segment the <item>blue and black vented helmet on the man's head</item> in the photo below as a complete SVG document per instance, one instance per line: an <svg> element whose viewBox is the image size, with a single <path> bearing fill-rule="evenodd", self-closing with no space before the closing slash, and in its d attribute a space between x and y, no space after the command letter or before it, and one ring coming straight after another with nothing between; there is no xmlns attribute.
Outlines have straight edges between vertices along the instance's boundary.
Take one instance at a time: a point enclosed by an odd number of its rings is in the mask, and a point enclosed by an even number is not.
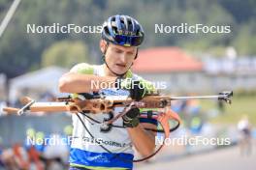
<svg viewBox="0 0 256 170"><path fill-rule="evenodd" d="M102 39L122 46L139 46L144 42L144 29L133 17L116 14L104 22Z"/></svg>

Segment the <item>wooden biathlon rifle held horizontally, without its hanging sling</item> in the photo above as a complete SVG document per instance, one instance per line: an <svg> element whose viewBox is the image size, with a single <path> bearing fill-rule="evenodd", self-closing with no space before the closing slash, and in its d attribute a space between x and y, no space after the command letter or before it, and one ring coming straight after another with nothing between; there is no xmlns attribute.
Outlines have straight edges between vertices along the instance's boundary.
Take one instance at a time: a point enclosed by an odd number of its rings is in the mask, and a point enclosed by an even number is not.
<svg viewBox="0 0 256 170"><path fill-rule="evenodd" d="M56 101L37 102L35 99L24 97L20 102L24 104L21 108L4 107L7 113L22 115L25 111L30 112L90 112L90 113L109 113L114 107L134 105L138 108L166 108L171 106L172 100L188 99L218 99L227 103L232 102L233 92L222 92L215 96L194 96L194 97L170 97L160 95L147 95L140 101L134 101L127 97L105 97L83 95L84 99L57 98Z"/></svg>

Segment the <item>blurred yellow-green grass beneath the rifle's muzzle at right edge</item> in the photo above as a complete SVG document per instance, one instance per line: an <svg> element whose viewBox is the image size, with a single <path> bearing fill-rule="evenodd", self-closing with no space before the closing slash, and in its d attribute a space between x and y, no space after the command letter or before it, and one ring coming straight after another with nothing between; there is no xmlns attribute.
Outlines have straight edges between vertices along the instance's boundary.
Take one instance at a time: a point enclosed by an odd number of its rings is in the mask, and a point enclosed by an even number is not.
<svg viewBox="0 0 256 170"><path fill-rule="evenodd" d="M217 108L216 102L203 100L202 109ZM243 115L247 115L252 125L256 126L256 96L234 97L232 104L224 104L225 112L209 121L215 124L237 124Z"/></svg>

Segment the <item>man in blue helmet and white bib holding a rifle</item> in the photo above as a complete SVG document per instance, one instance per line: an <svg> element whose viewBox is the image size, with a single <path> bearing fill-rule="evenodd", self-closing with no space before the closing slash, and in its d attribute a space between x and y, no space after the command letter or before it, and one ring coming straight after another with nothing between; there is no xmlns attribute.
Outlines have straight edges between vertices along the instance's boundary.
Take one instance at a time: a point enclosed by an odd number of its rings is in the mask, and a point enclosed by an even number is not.
<svg viewBox="0 0 256 170"><path fill-rule="evenodd" d="M100 41L104 64L76 65L60 78L60 92L72 93L74 97L79 97L81 93L97 92L106 96L143 99L146 93L155 89L151 83L130 71L138 55L138 46L143 41L144 30L136 19L128 15L109 17L103 24ZM93 86L92 82L109 86L103 89L101 86ZM124 87L126 89L122 89ZM71 169L132 169L132 146L142 156L149 156L154 152L155 133L144 128L156 128L157 123L153 119L139 119L138 108L129 110L122 119L113 123L114 127L103 128L91 121L109 120L121 110L122 108L115 108L109 114L73 115Z"/></svg>

